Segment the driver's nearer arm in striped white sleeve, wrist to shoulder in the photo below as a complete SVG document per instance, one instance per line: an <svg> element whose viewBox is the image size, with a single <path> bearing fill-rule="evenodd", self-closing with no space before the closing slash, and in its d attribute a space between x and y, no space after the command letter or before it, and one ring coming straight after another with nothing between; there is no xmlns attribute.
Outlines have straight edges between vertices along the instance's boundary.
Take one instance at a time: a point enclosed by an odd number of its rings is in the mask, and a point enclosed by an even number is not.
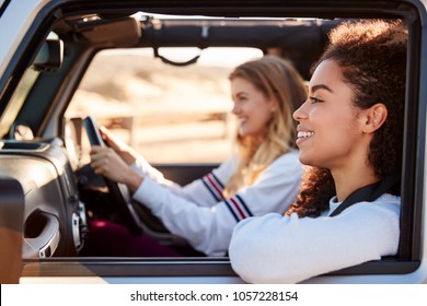
<svg viewBox="0 0 427 306"><path fill-rule="evenodd" d="M289 154L267 167L254 185L210 208L178 197L149 178L134 193L134 199L151 209L169 231L186 238L195 249L209 256L224 256L239 221L287 210L298 192L301 174L298 154ZM206 189L205 192L212 197Z"/></svg>

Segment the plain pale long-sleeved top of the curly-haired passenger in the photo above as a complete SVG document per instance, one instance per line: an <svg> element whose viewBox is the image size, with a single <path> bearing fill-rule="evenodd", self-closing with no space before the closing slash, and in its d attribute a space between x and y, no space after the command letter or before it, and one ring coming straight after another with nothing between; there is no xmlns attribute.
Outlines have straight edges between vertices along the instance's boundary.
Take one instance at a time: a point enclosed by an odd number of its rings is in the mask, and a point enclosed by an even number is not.
<svg viewBox="0 0 427 306"><path fill-rule="evenodd" d="M319 217L270 213L235 226L230 243L234 271L250 283L298 283L315 275L392 256L399 245L400 197L383 195L341 214Z"/></svg>

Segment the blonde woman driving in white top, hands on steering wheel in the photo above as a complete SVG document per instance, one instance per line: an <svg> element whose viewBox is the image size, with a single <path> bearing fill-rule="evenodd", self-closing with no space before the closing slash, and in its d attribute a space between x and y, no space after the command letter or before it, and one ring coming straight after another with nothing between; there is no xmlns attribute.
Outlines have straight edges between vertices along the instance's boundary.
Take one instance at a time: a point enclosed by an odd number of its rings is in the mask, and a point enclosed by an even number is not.
<svg viewBox="0 0 427 306"><path fill-rule="evenodd" d="M205 177L181 187L103 128L111 148L91 151L96 174L126 184L171 233L207 256L226 255L241 220L288 210L303 170L292 113L307 90L293 67L266 56L236 67L229 79L238 152Z"/></svg>

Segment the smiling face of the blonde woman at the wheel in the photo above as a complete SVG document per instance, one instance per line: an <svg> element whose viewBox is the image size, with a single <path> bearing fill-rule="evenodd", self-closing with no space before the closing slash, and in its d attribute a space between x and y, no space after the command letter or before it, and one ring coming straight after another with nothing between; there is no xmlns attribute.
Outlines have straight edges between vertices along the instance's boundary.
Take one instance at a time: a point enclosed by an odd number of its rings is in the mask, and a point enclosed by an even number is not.
<svg viewBox="0 0 427 306"><path fill-rule="evenodd" d="M231 96L239 134L263 138L267 122L276 110L276 103L267 99L251 82L242 78L231 80Z"/></svg>

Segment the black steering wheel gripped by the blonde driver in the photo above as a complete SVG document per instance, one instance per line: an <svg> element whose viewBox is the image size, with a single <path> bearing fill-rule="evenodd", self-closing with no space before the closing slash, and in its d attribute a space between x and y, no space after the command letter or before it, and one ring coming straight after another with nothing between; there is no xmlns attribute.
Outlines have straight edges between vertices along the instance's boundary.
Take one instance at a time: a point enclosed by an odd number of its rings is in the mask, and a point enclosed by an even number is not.
<svg viewBox="0 0 427 306"><path fill-rule="evenodd" d="M82 123L91 145L106 146L97 129L95 120L91 116L84 118ZM118 213L124 219L125 226L131 235L140 235L142 233L141 220L139 219L134 204L131 203L127 186L122 183L113 181L105 176L103 176L103 178L105 180L105 185L108 188L111 200L113 203L117 204Z"/></svg>

